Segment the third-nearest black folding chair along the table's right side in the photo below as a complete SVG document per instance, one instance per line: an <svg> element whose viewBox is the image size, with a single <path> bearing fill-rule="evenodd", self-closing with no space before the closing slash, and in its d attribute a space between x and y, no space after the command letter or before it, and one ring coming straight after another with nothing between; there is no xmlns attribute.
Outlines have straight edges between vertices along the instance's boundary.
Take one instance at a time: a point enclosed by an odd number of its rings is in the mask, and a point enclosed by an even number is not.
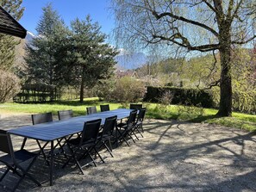
<svg viewBox="0 0 256 192"><path fill-rule="evenodd" d="M118 128L116 128L117 133L119 133L118 139L119 140L124 140L126 144L128 145L127 139L125 137L128 135L135 143L135 140L132 137L132 134L136 137L136 139L139 139L136 134L134 133L134 126L135 126L135 121L136 121L136 115L137 115L137 110L133 110L130 112L130 115L128 117L128 121L126 123L119 123L117 125ZM123 131L122 131L123 129ZM117 139L117 142L118 142ZM128 145L129 146L129 145Z"/></svg>

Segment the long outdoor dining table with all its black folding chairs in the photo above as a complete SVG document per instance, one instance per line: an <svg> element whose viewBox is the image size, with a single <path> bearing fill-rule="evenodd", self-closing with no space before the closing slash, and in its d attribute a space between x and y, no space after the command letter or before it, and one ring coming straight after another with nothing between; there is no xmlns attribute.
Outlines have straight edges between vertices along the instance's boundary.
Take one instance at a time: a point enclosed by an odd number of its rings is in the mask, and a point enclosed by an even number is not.
<svg viewBox="0 0 256 192"><path fill-rule="evenodd" d="M41 183L28 173L36 158L41 155L49 167L50 185L53 185L53 162L59 154L65 157L62 168L74 162L78 170L84 174L85 165L92 163L97 166L95 158L98 157L105 163L101 156L103 149L114 157L112 145L119 146L123 142L130 146L128 139L135 142L135 139L139 139L137 134L143 137L142 124L146 108L142 108L142 104L130 104L129 109L109 110L109 105L101 105L100 108L101 112L97 112L96 107L86 108L87 115L76 117L73 117L72 109L61 110L58 111L59 121L53 121L52 113L32 115L31 126L9 131L0 130L0 162L7 167L0 177L0 182L9 170L12 170L19 177L12 191L18 188L24 177L41 186ZM11 141L11 136L14 135L23 138L21 148L16 151ZM36 141L39 151L28 152L25 149L28 139ZM47 150L48 144L50 149ZM81 161L84 159L90 161L82 165ZM26 164L25 168L23 163Z"/></svg>

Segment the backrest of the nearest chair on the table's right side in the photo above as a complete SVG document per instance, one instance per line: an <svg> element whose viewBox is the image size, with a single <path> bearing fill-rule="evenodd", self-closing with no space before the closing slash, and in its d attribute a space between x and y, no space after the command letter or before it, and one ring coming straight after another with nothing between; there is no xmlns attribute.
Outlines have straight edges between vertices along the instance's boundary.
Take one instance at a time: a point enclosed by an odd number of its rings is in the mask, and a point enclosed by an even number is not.
<svg viewBox="0 0 256 192"><path fill-rule="evenodd" d="M101 122L101 119L84 122L84 129L82 132L80 145L82 145L84 142L88 140L91 140L91 142L97 141L97 135L99 128L101 127Z"/></svg>

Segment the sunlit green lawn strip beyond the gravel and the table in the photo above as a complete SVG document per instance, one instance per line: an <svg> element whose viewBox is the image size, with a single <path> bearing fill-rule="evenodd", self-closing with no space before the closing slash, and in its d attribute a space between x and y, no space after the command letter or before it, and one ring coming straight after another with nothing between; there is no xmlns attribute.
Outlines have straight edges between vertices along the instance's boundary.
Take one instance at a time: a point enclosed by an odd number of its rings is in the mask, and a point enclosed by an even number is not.
<svg viewBox="0 0 256 192"><path fill-rule="evenodd" d="M30 114L53 112L53 115L57 115L58 110L72 109L74 115L84 115L86 107L97 106L97 110L100 111L99 105L106 103L109 102L101 102L97 97L84 99L83 104L78 101L64 101L40 104L20 104L7 102L0 104L0 114L8 112L21 112ZM256 130L256 115L233 113L233 117L218 117L215 115L217 113L217 110L212 108L195 108L178 105L165 106L149 102L144 102L143 105L147 107L147 118L208 122L228 127L243 128L248 131ZM128 104L111 102L109 103L109 107L110 109L123 107L128 108Z"/></svg>

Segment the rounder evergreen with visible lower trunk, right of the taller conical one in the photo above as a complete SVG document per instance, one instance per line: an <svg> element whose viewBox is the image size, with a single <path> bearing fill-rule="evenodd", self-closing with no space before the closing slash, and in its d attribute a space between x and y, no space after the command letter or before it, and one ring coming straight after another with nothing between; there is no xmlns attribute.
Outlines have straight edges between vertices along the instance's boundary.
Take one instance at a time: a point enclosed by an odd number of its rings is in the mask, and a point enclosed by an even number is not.
<svg viewBox="0 0 256 192"><path fill-rule="evenodd" d="M117 52L104 42L106 35L101 33L97 22L91 23L90 15L84 21L77 18L71 27L72 82L80 84L80 102L83 102L85 87L90 88L99 79L109 77L116 64L114 57Z"/></svg>

